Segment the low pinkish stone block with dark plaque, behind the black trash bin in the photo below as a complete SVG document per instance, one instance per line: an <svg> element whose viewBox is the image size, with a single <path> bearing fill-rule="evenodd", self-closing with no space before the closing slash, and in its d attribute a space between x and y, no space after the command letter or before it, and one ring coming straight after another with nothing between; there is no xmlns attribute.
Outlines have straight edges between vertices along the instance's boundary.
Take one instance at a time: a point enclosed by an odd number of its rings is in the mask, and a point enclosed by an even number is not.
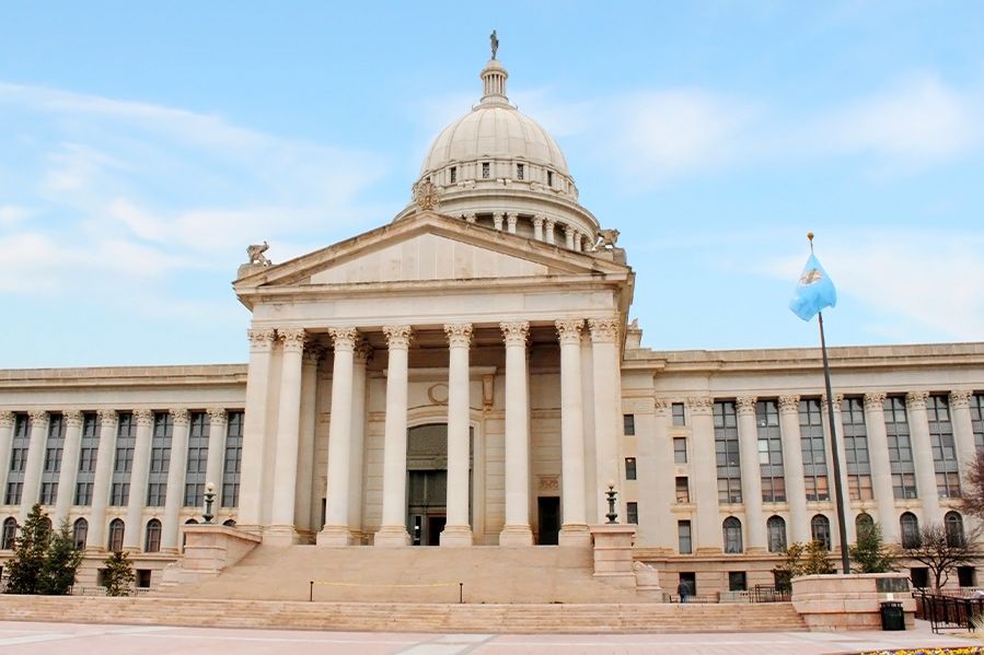
<svg viewBox="0 0 984 655"><path fill-rule="evenodd" d="M914 629L916 601L904 573L804 575L792 581L792 606L812 631L881 630L880 604L887 600L902 603L905 629Z"/></svg>

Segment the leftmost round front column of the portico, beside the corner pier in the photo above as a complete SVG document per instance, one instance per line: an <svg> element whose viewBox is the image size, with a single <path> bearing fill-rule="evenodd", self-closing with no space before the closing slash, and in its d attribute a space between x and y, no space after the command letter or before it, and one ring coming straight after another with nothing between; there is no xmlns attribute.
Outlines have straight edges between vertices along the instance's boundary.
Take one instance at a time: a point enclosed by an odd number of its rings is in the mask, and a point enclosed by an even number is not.
<svg viewBox="0 0 984 655"><path fill-rule="evenodd" d="M301 424L301 360L304 353L304 328L277 331L283 348L280 360L280 406L277 410L274 502L270 507L270 526L264 531L263 540L266 543L290 545L298 541L298 529L293 524L293 503Z"/></svg>

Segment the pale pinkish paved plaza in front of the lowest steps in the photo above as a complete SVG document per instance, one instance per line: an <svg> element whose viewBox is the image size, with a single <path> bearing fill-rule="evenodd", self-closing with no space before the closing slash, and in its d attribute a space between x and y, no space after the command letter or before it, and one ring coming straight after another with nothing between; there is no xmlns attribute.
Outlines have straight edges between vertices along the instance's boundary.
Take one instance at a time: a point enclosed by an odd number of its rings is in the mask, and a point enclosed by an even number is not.
<svg viewBox="0 0 984 655"><path fill-rule="evenodd" d="M157 625L0 622L4 655L192 655L207 653L332 653L345 655L520 655L524 653L646 653L672 655L820 655L885 648L966 646L981 642L933 634L919 621L906 632L744 632L701 634L414 634L233 630Z"/></svg>

